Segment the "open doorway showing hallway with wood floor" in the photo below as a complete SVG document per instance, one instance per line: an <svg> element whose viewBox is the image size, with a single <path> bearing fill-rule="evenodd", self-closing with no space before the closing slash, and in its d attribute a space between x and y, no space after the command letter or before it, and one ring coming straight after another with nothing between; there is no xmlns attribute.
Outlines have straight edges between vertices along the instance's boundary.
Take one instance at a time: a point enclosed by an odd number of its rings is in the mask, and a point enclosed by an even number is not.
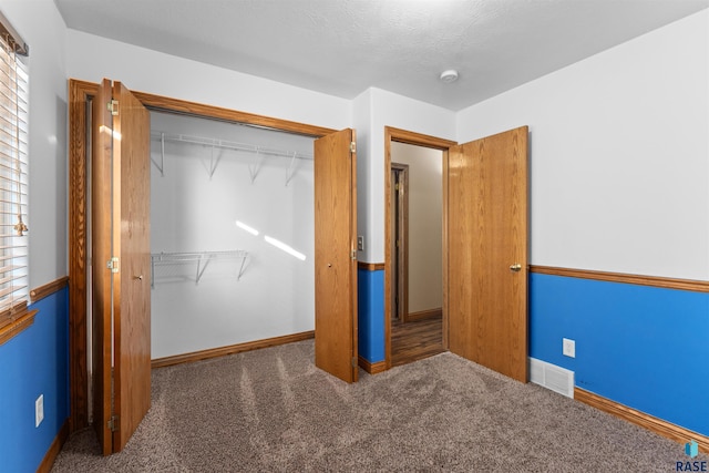
<svg viewBox="0 0 709 473"><path fill-rule="evenodd" d="M391 366L443 348L443 155L392 142L389 160Z"/></svg>

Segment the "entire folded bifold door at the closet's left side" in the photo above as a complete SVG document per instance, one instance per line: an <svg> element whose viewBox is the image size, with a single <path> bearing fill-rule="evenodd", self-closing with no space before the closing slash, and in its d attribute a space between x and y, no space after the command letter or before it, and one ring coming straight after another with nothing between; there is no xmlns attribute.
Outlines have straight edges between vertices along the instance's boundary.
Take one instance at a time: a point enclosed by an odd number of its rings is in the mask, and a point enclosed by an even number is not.
<svg viewBox="0 0 709 473"><path fill-rule="evenodd" d="M104 79L92 119L94 429L107 455L151 407L150 113Z"/></svg>

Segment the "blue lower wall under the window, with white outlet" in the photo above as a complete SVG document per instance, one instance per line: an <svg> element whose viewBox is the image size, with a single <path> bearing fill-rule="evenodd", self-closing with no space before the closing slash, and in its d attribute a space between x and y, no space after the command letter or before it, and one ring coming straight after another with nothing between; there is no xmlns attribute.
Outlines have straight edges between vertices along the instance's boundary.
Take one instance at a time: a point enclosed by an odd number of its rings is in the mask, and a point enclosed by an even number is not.
<svg viewBox="0 0 709 473"><path fill-rule="evenodd" d="M0 471L34 472L69 417L69 289L31 306L34 323L0 346ZM34 426L34 401L44 420Z"/></svg>

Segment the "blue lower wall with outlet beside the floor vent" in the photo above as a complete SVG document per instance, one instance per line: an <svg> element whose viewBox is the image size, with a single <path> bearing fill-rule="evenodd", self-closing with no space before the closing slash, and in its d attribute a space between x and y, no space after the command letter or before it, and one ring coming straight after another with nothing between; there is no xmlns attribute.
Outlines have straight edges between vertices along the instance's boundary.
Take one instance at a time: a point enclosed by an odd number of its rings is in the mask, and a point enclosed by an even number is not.
<svg viewBox="0 0 709 473"><path fill-rule="evenodd" d="M562 339L576 341L576 358ZM709 294L532 274L530 356L576 385L709 435Z"/></svg>

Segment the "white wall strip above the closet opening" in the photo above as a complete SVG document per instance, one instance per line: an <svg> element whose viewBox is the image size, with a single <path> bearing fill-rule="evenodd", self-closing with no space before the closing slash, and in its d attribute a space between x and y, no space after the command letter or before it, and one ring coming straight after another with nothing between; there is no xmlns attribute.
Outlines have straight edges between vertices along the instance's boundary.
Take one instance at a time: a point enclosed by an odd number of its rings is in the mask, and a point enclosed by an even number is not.
<svg viewBox="0 0 709 473"><path fill-rule="evenodd" d="M351 103L305 89L164 54L127 43L68 31L68 75L103 78L134 91L222 106L311 125L350 126Z"/></svg>

